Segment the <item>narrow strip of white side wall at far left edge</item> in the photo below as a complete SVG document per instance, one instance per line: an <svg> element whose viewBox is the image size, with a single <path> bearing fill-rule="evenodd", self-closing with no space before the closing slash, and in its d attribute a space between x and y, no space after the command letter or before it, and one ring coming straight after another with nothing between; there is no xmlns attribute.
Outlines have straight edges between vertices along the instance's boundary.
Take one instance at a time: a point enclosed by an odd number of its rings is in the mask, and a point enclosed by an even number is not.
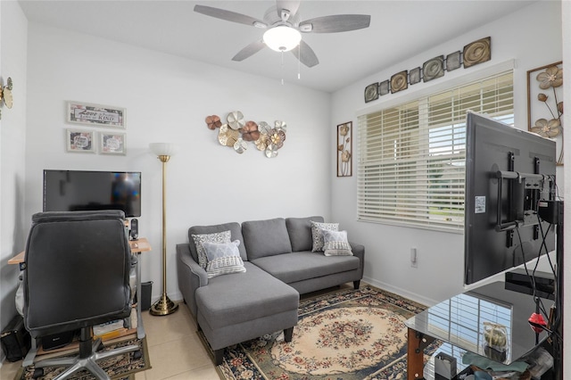
<svg viewBox="0 0 571 380"><path fill-rule="evenodd" d="M14 293L19 268L7 261L24 249L24 161L28 21L17 2L0 3L2 84L13 81L13 106L1 107L0 121L0 327L16 314ZM4 351L0 352L0 362Z"/></svg>

